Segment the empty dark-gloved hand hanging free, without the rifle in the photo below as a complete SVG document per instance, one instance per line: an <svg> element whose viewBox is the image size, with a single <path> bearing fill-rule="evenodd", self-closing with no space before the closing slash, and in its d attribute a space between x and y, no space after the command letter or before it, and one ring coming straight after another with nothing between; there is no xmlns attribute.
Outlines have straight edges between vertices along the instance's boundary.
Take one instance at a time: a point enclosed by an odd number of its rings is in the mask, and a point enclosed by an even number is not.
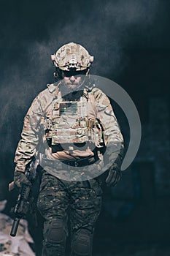
<svg viewBox="0 0 170 256"><path fill-rule="evenodd" d="M114 163L111 167L109 167L109 174L106 179L106 184L108 187L115 186L120 178L122 177L122 173L120 167L116 163Z"/></svg>

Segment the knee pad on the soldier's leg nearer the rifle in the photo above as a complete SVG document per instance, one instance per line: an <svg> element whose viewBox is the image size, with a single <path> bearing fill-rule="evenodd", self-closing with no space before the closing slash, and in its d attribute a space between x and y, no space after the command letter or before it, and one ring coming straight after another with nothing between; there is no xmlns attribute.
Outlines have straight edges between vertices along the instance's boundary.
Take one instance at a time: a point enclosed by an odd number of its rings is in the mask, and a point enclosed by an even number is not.
<svg viewBox="0 0 170 256"><path fill-rule="evenodd" d="M46 225L45 240L51 244L65 244L66 224L62 219L53 220Z"/></svg>

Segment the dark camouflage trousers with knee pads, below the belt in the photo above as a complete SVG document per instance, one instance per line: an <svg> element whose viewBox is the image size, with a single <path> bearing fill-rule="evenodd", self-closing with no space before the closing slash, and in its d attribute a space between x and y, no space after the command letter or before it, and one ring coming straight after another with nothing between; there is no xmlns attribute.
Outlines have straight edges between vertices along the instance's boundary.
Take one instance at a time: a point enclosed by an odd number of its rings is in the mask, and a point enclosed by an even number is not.
<svg viewBox="0 0 170 256"><path fill-rule="evenodd" d="M94 226L101 211L100 185L96 179L63 181L43 171L37 201L45 218L42 256L66 255L68 234L72 256L92 255Z"/></svg>

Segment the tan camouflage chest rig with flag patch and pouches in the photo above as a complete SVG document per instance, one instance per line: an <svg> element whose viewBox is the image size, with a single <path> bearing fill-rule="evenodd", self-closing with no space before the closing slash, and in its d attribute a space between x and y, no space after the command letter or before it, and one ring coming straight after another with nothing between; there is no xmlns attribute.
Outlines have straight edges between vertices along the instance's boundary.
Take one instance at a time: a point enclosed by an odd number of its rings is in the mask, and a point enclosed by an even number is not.
<svg viewBox="0 0 170 256"><path fill-rule="evenodd" d="M103 127L96 118L95 105L89 101L89 93L83 90L77 100L66 100L58 94L53 99L50 114L45 118L45 138L49 146L63 143L93 143L104 146Z"/></svg>

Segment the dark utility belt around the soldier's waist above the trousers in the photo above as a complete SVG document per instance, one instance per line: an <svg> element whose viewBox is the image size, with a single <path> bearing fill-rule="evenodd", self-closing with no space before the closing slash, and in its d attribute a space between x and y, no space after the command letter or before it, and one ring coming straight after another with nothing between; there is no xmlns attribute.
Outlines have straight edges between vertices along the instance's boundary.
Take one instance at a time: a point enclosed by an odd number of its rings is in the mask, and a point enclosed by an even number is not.
<svg viewBox="0 0 170 256"><path fill-rule="evenodd" d="M58 170L66 169L66 165L73 167L83 167L87 165L93 165L98 159L96 157L83 157L82 159L76 160L50 160L42 157L42 166L48 166L52 168L58 168Z"/></svg>

